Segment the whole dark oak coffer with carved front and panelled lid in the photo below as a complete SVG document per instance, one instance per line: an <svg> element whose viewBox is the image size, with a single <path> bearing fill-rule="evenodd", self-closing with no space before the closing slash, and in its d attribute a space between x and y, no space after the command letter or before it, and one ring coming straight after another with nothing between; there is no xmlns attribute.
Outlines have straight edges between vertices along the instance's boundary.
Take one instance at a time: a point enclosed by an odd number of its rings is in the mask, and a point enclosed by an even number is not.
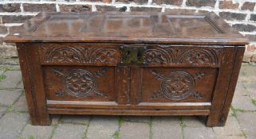
<svg viewBox="0 0 256 139"><path fill-rule="evenodd" d="M33 125L49 114L224 125L247 40L215 14L41 13L10 33Z"/></svg>

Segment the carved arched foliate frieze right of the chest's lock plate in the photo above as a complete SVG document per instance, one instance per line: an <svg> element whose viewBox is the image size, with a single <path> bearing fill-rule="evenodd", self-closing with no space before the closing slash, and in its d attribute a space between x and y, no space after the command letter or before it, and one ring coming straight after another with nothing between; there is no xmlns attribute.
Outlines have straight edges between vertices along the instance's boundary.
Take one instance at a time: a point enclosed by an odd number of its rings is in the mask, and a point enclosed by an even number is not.
<svg viewBox="0 0 256 139"><path fill-rule="evenodd" d="M144 52L145 64L219 64L217 49L153 48Z"/></svg>

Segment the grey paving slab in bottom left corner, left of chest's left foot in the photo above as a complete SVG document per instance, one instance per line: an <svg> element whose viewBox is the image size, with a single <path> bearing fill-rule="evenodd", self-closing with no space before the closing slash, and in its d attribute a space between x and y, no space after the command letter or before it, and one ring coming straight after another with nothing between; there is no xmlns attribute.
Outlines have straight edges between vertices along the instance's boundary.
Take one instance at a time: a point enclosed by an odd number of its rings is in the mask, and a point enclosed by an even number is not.
<svg viewBox="0 0 256 139"><path fill-rule="evenodd" d="M29 120L28 114L7 113L0 119L0 139L18 137Z"/></svg>

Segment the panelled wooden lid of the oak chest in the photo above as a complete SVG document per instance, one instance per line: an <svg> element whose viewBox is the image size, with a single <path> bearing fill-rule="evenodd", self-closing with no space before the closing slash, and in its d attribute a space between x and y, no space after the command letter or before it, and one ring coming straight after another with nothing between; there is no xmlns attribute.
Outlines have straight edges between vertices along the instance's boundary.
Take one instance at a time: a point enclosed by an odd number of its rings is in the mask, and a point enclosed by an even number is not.
<svg viewBox="0 0 256 139"><path fill-rule="evenodd" d="M41 13L6 42L247 44L215 14Z"/></svg>

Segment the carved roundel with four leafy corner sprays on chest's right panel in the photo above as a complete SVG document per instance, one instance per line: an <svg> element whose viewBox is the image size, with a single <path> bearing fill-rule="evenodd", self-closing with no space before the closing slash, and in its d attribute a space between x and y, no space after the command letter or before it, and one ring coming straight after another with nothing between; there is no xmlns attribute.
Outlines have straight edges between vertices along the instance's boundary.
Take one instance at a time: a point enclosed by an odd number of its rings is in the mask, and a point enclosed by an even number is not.
<svg viewBox="0 0 256 139"><path fill-rule="evenodd" d="M152 98L170 98L180 100L193 95L201 98L199 92L195 91L195 80L203 78L204 73L196 73L195 76L185 71L173 71L169 75L163 76L160 72L153 70L152 75L161 81L161 90L152 94Z"/></svg>

